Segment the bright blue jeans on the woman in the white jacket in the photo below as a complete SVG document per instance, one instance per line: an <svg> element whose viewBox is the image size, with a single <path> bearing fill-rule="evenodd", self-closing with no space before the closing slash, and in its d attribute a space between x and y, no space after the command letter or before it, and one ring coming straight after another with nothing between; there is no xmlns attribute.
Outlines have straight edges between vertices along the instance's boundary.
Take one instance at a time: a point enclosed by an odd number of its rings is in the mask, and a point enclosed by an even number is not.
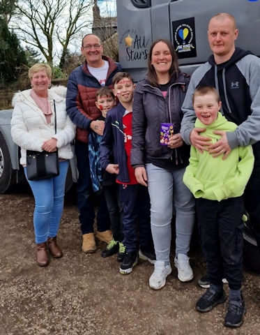
<svg viewBox="0 0 260 335"><path fill-rule="evenodd" d="M48 237L55 237L58 234L63 213L68 165L69 161L61 161L58 177L36 181L27 179L27 169L24 168L24 174L35 200L33 226L36 244L43 243Z"/></svg>

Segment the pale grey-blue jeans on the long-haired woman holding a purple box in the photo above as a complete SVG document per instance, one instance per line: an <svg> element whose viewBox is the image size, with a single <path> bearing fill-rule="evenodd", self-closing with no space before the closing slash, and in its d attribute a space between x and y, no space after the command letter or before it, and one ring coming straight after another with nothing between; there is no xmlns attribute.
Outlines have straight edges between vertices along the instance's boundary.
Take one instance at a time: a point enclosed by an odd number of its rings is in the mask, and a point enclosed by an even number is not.
<svg viewBox="0 0 260 335"><path fill-rule="evenodd" d="M194 227L195 202L183 184L185 168L168 171L146 164L148 191L151 199L151 230L156 260L169 262L171 220L176 210L176 255L188 254Z"/></svg>

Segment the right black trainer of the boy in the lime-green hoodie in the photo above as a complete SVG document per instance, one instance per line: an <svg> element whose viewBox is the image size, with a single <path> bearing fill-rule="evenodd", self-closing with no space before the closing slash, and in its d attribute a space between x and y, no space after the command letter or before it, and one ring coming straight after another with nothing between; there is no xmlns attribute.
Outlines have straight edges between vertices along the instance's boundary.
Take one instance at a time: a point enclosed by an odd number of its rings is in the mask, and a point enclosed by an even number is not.
<svg viewBox="0 0 260 335"><path fill-rule="evenodd" d="M243 318L245 315L245 301L243 297L241 299L229 300L229 309L227 315L224 318L224 325L230 328L238 328L243 324Z"/></svg>

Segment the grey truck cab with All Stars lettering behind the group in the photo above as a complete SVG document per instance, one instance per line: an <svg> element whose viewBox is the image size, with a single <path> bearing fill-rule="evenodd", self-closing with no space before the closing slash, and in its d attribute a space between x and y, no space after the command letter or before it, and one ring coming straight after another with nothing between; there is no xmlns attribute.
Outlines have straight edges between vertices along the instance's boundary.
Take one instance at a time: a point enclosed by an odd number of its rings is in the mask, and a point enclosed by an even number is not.
<svg viewBox="0 0 260 335"><path fill-rule="evenodd" d="M217 13L234 15L236 46L260 57L260 0L117 0L116 6L119 61L135 82L146 75L148 52L158 38L171 40L181 70L191 75L212 53L208 22ZM245 217L244 264L260 273L257 242Z"/></svg>

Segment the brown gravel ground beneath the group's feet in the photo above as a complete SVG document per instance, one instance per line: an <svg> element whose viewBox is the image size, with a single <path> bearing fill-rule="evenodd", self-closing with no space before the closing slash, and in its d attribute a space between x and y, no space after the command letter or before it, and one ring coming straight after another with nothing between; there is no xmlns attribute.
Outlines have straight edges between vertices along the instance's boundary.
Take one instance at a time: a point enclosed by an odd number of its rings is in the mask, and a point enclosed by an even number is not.
<svg viewBox="0 0 260 335"><path fill-rule="evenodd" d="M260 334L260 277L245 271L247 305L240 329L223 326L227 302L209 313L194 304L204 292L197 280L205 264L196 239L190 262L194 280L181 283L172 274L162 290L148 287L153 266L137 265L122 276L116 255L81 251L75 193L66 195L59 244L63 258L38 267L34 259L33 197L28 188L0 195L0 334L1 335L178 335ZM227 290L227 285L225 285Z"/></svg>

